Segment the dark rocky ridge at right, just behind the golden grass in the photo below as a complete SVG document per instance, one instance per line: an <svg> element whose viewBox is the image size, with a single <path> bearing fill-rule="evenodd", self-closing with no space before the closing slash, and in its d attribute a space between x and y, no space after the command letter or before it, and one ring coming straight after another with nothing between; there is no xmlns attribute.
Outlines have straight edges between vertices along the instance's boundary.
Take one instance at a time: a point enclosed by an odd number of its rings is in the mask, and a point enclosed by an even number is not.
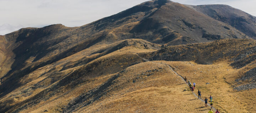
<svg viewBox="0 0 256 113"><path fill-rule="evenodd" d="M144 54L143 56L150 60L195 61L198 64L212 64L213 61L225 58L232 61L231 66L240 69L256 60L255 53L256 42L254 40L229 39L208 43L166 46L150 55Z"/></svg>

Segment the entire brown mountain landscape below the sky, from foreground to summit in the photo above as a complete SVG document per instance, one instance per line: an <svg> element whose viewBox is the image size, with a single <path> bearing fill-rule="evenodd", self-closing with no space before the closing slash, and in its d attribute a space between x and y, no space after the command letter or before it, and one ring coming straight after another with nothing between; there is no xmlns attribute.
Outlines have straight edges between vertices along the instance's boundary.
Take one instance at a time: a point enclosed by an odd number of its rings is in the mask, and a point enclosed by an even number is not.
<svg viewBox="0 0 256 113"><path fill-rule="evenodd" d="M204 112L184 76L220 110L251 111L255 25L226 5L153 0L79 27L0 35L0 111Z"/></svg>

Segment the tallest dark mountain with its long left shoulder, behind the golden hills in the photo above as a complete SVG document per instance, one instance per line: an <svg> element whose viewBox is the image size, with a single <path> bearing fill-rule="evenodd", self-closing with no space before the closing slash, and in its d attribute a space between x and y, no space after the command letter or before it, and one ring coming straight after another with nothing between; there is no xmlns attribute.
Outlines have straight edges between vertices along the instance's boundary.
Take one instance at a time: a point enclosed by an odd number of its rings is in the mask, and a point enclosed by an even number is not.
<svg viewBox="0 0 256 113"><path fill-rule="evenodd" d="M98 42L113 43L141 38L158 44L178 45L221 38L249 38L223 22L169 0L145 2L81 27L67 28L57 24L26 28L5 37L15 41L12 47L16 48L13 48L16 60L5 77L21 67L34 70L51 64ZM39 59L44 63L38 63ZM24 66L26 60L32 64ZM17 64L22 65L17 67Z"/></svg>

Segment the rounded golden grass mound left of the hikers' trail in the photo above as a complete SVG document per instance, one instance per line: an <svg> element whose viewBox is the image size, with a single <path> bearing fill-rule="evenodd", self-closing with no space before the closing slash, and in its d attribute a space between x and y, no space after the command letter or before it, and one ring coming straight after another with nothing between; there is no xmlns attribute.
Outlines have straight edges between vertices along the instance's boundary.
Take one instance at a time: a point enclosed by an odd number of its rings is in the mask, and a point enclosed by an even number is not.
<svg viewBox="0 0 256 113"><path fill-rule="evenodd" d="M136 75L160 67L162 71L132 82ZM77 113L205 113L209 109L204 107L204 102L188 91L185 82L166 65L146 62L128 67L126 70L127 73L117 79L117 85L122 85L122 89L115 88ZM184 89L187 91L183 91Z"/></svg>

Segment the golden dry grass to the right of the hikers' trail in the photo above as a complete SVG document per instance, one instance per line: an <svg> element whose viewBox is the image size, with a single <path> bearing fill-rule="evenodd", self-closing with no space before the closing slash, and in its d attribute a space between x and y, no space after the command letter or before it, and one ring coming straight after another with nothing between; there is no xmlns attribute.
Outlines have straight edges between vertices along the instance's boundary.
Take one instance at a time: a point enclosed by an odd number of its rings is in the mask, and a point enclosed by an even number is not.
<svg viewBox="0 0 256 113"><path fill-rule="evenodd" d="M214 99L214 107L224 113L241 112L247 113L255 109L255 89L245 91L235 91L226 79L236 78L238 70L233 69L227 62L219 62L212 65L198 65L193 62L180 61L158 61L175 67L176 72L183 77L187 77L192 83L196 83L196 88L201 90L202 97ZM201 72L202 71L202 72ZM233 73L230 76L230 73ZM229 75L229 78L227 76ZM210 84L206 84L210 83ZM250 93L249 93L250 92ZM254 92L254 93L252 93Z"/></svg>

